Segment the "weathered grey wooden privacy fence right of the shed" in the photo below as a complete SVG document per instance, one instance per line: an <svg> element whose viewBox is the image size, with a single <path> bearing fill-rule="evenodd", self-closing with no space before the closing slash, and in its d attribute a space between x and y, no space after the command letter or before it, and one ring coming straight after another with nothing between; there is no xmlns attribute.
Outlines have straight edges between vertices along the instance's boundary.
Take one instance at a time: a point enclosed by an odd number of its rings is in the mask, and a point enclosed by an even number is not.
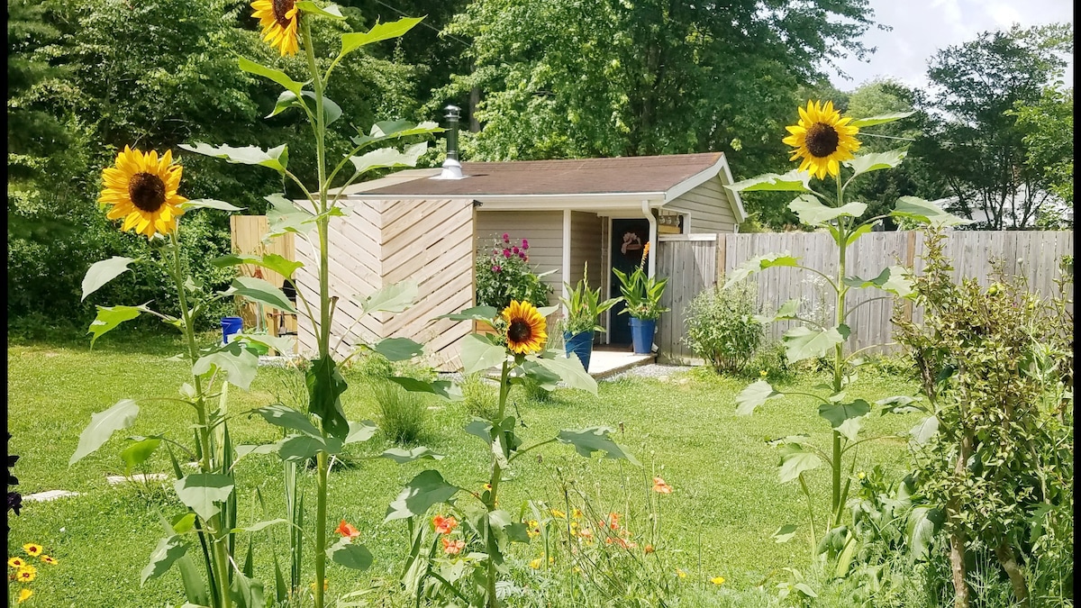
<svg viewBox="0 0 1081 608"><path fill-rule="evenodd" d="M660 316L657 345L663 359L696 361L694 353L683 343L684 308L691 300L719 277L747 260L765 253L788 252L800 257L803 265L830 277L837 275L837 244L825 233L763 233L749 235L678 235L664 236L657 248L657 274L669 277L662 302L671 308ZM1072 232L1050 230L951 230L947 233L944 253L953 265L953 279L977 279L991 282L993 263L1001 261L1007 274L1028 281L1030 291L1043 295L1057 293L1054 280L1059 276L1059 262L1073 254ZM845 274L873 278L894 264L922 273L923 237L918 230L869 233L849 247ZM763 312L771 313L791 299L801 300L801 316L820 317L833 323L832 289L820 277L792 267L768 268L750 279L758 283L758 299ZM1072 287L1070 288L1072 294ZM888 298L879 299L886 295ZM892 340L895 299L877 289L849 292L846 307L852 335L850 349L869 347L880 353L895 352ZM858 308L855 308L858 306ZM1072 312L1072 307L1071 307ZM906 315L919 322L922 310L908 306ZM778 321L766 328L766 340L776 341L796 321Z"/></svg>

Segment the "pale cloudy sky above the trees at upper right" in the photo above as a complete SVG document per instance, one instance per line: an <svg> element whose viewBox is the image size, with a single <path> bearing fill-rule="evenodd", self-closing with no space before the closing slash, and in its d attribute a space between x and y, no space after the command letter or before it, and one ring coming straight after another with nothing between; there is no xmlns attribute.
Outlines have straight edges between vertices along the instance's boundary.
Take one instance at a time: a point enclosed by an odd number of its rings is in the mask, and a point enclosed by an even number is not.
<svg viewBox="0 0 1081 608"><path fill-rule="evenodd" d="M866 47L878 47L870 62L854 57L838 62L852 77L830 79L833 87L853 91L877 77L892 77L908 87L926 84L927 61L940 49L975 40L984 31L1050 23L1073 23L1071 0L870 0L875 22L893 27L864 34ZM1073 85L1073 65L1064 78Z"/></svg>

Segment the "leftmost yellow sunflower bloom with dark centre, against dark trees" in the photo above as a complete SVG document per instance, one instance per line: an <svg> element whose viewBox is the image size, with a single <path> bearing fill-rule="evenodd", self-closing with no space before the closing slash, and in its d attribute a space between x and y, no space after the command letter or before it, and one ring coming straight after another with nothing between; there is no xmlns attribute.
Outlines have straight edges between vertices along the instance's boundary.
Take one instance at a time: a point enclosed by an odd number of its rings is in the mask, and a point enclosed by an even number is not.
<svg viewBox="0 0 1081 608"><path fill-rule="evenodd" d="M179 206L188 200L176 194L182 172L171 150L159 159L154 150L143 154L124 146L116 167L102 171L105 189L97 201L112 206L106 217L123 219L124 230L134 228L147 238L172 233L176 217L184 214Z"/></svg>

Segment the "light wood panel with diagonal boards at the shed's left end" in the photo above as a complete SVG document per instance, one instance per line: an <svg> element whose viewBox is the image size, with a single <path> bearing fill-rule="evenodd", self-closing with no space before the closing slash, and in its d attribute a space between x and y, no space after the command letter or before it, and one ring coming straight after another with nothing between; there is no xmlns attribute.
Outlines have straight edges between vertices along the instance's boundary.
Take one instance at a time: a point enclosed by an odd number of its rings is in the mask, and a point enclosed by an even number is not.
<svg viewBox="0 0 1081 608"><path fill-rule="evenodd" d="M472 303L472 201L464 199L349 201L345 216L331 221L329 235L331 293L338 296L331 346L341 343L339 357L348 356L360 342L409 338L425 345L427 365L440 370L459 367L458 344L470 325L433 319ZM317 250L302 238L296 254L305 263L297 272L298 287L315 302ZM406 279L418 285L416 304L402 313L376 313L357 321L356 295L365 298ZM298 338L302 352L318 349L307 319L299 322Z"/></svg>

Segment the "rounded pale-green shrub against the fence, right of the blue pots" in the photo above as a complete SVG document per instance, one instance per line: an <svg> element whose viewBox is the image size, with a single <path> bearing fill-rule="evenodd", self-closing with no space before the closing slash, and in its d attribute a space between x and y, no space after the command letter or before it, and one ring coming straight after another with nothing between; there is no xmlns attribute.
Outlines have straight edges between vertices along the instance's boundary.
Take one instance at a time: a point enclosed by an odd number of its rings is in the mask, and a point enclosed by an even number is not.
<svg viewBox="0 0 1081 608"><path fill-rule="evenodd" d="M758 286L743 281L717 287L695 295L686 306L683 341L719 373L739 373L762 343L765 330L755 318L759 313Z"/></svg>

